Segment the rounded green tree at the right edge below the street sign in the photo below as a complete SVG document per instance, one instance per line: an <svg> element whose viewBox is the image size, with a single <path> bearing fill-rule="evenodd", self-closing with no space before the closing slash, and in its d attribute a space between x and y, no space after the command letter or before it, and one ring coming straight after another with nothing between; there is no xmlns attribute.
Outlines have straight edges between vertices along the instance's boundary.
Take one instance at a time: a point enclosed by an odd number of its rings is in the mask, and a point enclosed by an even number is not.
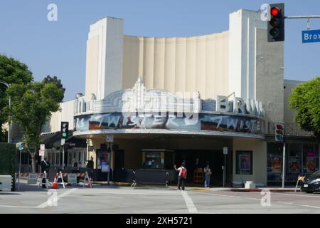
<svg viewBox="0 0 320 228"><path fill-rule="evenodd" d="M292 90L289 108L295 108L294 121L302 130L313 131L320 140L320 77L302 83Z"/></svg>

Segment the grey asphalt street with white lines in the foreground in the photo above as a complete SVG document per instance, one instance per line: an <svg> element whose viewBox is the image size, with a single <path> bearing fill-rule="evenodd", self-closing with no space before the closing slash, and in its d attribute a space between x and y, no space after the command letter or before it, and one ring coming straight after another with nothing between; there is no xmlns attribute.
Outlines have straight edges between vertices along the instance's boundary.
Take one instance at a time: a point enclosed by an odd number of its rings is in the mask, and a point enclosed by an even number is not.
<svg viewBox="0 0 320 228"><path fill-rule="evenodd" d="M0 192L0 213L319 213L320 194L94 186ZM270 196L270 201L263 198ZM263 198L263 199L262 199ZM263 201L263 202L262 202ZM266 202L270 202L267 204Z"/></svg>

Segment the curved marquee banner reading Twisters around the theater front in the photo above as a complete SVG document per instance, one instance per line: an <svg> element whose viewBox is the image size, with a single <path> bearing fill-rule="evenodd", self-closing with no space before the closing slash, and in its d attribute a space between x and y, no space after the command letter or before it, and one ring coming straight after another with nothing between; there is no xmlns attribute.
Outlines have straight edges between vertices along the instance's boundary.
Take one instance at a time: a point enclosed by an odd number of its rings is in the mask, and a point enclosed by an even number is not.
<svg viewBox="0 0 320 228"><path fill-rule="evenodd" d="M167 129L167 130L216 130L237 133L264 134L261 118L244 115L200 113L192 115L154 115L137 113L105 113L75 117L75 131L103 129Z"/></svg>

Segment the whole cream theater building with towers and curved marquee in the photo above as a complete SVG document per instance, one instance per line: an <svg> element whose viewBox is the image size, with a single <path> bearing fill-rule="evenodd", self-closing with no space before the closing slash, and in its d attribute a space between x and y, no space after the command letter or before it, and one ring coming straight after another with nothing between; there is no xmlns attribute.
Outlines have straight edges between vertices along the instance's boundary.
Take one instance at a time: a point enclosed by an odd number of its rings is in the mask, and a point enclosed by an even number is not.
<svg viewBox="0 0 320 228"><path fill-rule="evenodd" d="M274 124L284 123L287 183L318 170L319 144L287 108L301 82L284 80L284 43L267 42L260 12L235 11L229 20L228 31L169 38L124 35L123 19L91 24L85 94L61 104L43 131L68 121L73 138L86 142L77 156L96 169L110 165L114 180L137 170L145 182L162 182L184 160L188 182L208 162L212 185L222 185L223 168L229 184L279 185Z"/></svg>

